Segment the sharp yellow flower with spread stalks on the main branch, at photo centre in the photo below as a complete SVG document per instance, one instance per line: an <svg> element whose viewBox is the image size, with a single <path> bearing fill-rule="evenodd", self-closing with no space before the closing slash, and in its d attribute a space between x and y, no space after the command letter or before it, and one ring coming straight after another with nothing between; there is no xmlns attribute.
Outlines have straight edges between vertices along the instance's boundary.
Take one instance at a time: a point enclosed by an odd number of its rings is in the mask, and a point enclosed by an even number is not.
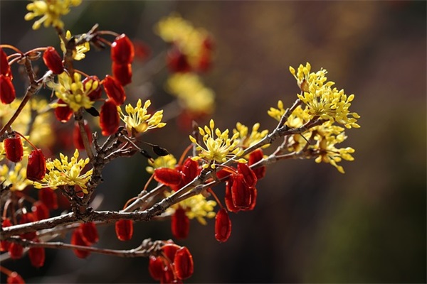
<svg viewBox="0 0 427 284"><path fill-rule="evenodd" d="M206 162L209 162L211 168L215 168L217 163L226 162L227 158L232 158L231 156L240 156L243 154L243 149L238 148L239 141L237 140L240 133L236 132L228 137L228 129L226 131L221 132L218 128L214 129L215 123L214 120L211 119L209 122L209 127L205 126L204 129L199 127L199 133L202 136L202 140L204 142L204 146L201 146L197 143L196 138L193 136L190 137L190 141L196 144L196 150L200 151L199 155L193 157L193 160L204 159ZM216 136L216 138L214 138ZM246 160L241 158L238 160L241 163L245 163ZM202 167L208 168L208 163L205 163Z"/></svg>

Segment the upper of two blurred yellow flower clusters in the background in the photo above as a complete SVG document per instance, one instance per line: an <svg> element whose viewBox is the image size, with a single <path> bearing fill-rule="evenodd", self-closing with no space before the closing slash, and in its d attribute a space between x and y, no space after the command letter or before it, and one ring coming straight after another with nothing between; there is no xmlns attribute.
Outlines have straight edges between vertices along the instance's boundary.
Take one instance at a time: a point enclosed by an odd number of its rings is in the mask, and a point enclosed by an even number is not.
<svg viewBox="0 0 427 284"><path fill-rule="evenodd" d="M178 45L182 53L188 56L190 65L199 61L201 49L208 33L201 28L194 28L189 21L184 20L178 13L162 18L156 26L157 33L167 43Z"/></svg>

